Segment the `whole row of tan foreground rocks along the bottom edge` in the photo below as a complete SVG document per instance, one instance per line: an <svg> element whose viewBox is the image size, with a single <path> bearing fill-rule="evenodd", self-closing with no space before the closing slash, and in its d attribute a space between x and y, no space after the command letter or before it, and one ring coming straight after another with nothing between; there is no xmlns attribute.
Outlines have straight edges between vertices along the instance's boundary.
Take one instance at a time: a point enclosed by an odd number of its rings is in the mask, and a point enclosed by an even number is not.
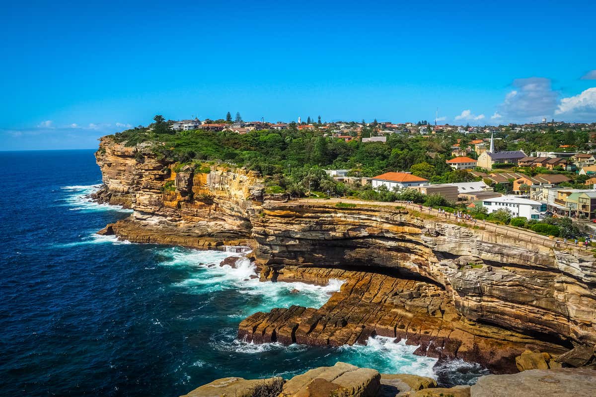
<svg viewBox="0 0 596 397"><path fill-rule="evenodd" d="M246 380L227 377L197 387L182 397L511 397L596 395L596 371L560 368L480 377L475 385L437 387L430 378L380 374L345 362L294 376Z"/></svg>

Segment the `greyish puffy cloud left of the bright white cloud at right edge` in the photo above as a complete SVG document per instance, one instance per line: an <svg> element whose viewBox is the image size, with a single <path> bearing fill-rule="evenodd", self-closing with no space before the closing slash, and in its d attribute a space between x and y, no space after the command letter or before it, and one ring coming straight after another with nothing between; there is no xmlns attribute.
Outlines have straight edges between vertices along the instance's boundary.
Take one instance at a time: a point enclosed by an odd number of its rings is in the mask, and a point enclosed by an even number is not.
<svg viewBox="0 0 596 397"><path fill-rule="evenodd" d="M552 90L551 80L530 77L513 81L513 90L505 95L498 114L508 121L541 120L557 108L557 92Z"/></svg>

